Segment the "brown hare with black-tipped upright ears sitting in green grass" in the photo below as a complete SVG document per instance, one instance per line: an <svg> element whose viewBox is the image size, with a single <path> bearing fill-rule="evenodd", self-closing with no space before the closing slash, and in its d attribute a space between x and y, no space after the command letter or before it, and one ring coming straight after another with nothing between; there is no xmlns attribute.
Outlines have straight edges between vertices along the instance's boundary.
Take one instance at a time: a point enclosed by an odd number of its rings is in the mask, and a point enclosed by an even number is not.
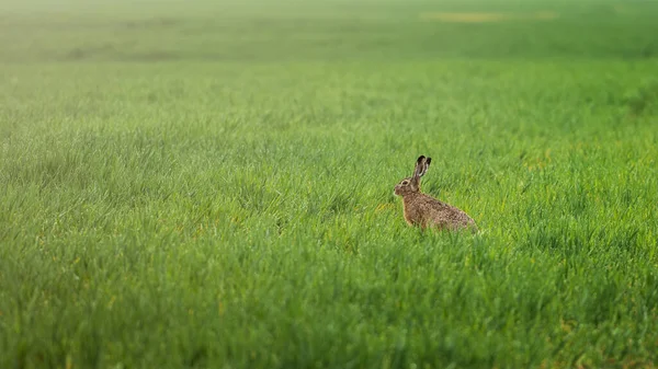
<svg viewBox="0 0 658 369"><path fill-rule="evenodd" d="M420 177L427 173L432 158L420 155L413 175L395 186L394 194L402 197L405 220L409 226L420 226L422 229L436 227L441 230L477 231L475 221L466 212L420 192Z"/></svg>

